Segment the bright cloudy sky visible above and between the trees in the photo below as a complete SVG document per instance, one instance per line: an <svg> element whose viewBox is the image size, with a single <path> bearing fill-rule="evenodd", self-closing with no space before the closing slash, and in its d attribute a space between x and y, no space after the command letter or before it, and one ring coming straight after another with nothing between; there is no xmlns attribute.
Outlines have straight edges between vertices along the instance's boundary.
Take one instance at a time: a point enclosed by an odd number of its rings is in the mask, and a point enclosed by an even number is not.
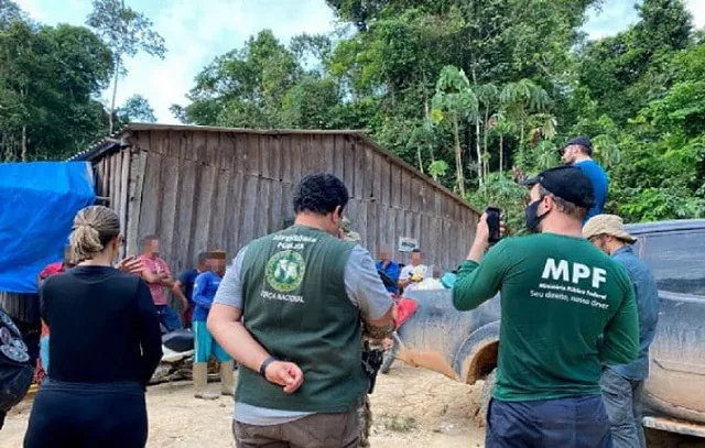
<svg viewBox="0 0 705 448"><path fill-rule="evenodd" d="M90 0L14 0L33 19L54 25L82 25ZM166 41L164 61L139 55L127 62L129 74L118 88L118 105L143 95L160 122L176 120L173 103L185 105L184 95L196 74L215 56L240 47L252 34L271 29L288 42L300 33L333 30L333 11L325 0L128 0L147 14ZM705 0L686 0L698 28L705 26ZM590 11L585 26L590 37L612 35L637 20L632 0L606 0L601 12ZM104 94L104 97L109 97Z"/></svg>

